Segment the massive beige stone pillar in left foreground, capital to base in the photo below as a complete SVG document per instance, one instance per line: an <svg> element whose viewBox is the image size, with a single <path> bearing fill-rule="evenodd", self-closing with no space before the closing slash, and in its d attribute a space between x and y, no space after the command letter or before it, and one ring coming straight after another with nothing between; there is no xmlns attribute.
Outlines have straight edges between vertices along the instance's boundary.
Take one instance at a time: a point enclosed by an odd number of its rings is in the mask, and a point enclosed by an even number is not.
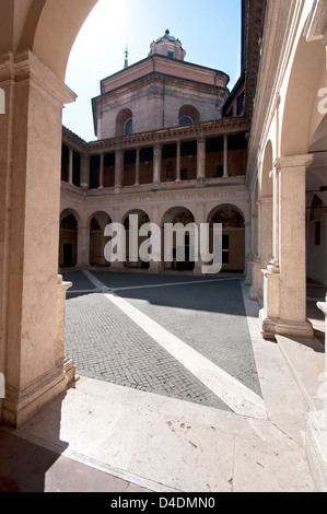
<svg viewBox="0 0 327 514"><path fill-rule="evenodd" d="M0 414L20 428L73 379L65 359L71 284L58 276L58 220L62 106L75 96L33 52L2 57L9 108L0 124Z"/></svg>

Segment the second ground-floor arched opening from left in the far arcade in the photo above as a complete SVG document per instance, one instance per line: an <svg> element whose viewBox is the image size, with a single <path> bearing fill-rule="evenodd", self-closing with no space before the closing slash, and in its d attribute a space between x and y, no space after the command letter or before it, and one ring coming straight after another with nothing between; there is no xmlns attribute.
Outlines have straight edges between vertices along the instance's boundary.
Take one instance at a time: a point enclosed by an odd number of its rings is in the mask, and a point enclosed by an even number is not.
<svg viewBox="0 0 327 514"><path fill-rule="evenodd" d="M104 236L104 230L112 223L110 217L106 212L95 212L90 221L90 265L108 266L104 256L104 247L107 238Z"/></svg>

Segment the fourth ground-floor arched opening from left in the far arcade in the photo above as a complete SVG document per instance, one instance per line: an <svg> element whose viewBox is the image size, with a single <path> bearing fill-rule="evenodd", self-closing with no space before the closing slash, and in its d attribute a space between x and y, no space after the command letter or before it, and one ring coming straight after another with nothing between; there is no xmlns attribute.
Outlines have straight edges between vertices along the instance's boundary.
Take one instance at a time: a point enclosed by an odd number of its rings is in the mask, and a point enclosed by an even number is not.
<svg viewBox="0 0 327 514"><path fill-rule="evenodd" d="M174 231L172 240L167 241L165 224L172 223L174 225L180 225L180 234ZM187 230L187 225L195 223L195 217L189 209L185 207L172 207L168 209L162 218L162 237L165 245L171 246L171 260L163 262L164 269L175 269L178 271L191 271L195 268L195 257L197 255L197 248L195 248L192 232Z"/></svg>

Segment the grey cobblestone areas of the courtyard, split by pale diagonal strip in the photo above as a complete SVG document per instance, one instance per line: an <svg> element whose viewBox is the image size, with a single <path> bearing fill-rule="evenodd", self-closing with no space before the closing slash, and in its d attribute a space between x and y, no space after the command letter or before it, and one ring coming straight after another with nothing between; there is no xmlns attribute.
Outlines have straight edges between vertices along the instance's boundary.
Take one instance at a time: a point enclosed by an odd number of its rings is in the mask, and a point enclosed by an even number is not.
<svg viewBox="0 0 327 514"><path fill-rule="evenodd" d="M240 279L104 271L89 277L260 395ZM229 410L105 294L92 292L95 284L82 271L63 273L63 279L73 282L67 295L66 354L78 374Z"/></svg>

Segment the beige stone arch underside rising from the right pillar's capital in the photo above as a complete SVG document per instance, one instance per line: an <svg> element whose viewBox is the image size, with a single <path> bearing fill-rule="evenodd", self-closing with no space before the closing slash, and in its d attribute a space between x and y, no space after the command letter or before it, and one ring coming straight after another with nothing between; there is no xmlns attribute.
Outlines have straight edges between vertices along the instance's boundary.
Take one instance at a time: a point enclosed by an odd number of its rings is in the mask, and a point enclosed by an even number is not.
<svg viewBox="0 0 327 514"><path fill-rule="evenodd" d="M281 156L306 154L308 151L312 112L318 93L318 79L326 66L320 40L307 43L300 37L284 100L281 124ZM316 124L322 120L316 117Z"/></svg>

